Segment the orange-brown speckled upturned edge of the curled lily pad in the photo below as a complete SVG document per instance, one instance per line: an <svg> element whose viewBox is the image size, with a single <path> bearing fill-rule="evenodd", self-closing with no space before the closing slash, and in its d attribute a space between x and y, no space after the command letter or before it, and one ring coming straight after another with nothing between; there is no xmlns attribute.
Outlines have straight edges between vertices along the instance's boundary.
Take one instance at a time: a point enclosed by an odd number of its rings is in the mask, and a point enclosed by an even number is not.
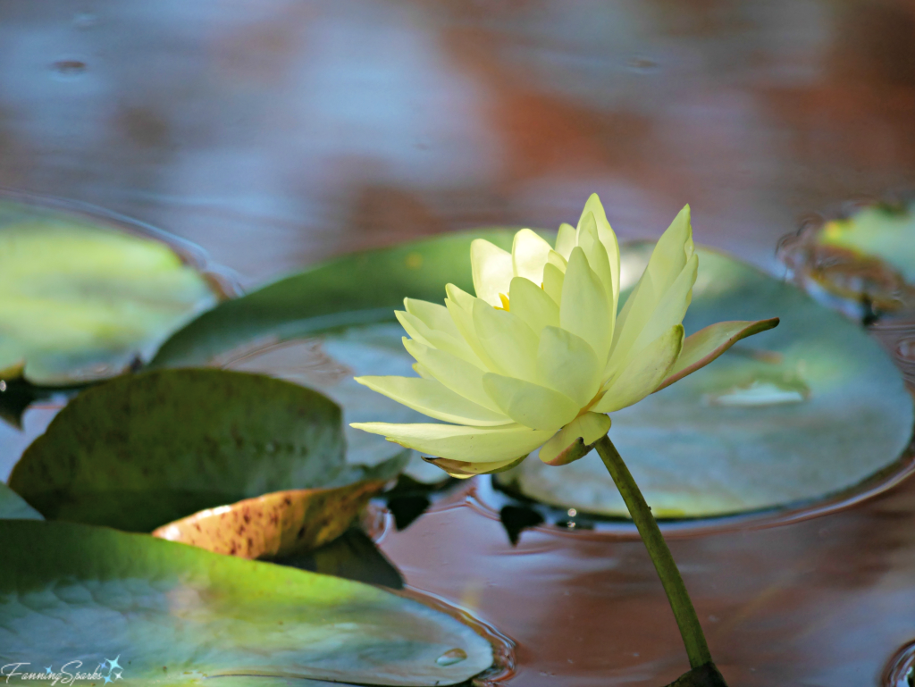
<svg viewBox="0 0 915 687"><path fill-rule="evenodd" d="M317 549L347 531L384 482L331 489L287 489L201 510L153 531L154 537L240 558L272 559Z"/></svg>

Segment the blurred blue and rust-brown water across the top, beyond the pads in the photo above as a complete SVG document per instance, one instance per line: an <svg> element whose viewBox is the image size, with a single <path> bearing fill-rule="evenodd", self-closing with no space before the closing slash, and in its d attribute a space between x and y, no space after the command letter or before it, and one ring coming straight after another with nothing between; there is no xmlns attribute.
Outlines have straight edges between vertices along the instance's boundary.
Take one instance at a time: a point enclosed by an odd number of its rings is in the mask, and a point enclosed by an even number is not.
<svg viewBox="0 0 915 687"><path fill-rule="evenodd" d="M252 285L331 254L684 203L778 268L805 213L915 181L904 0L5 0L0 186L206 248Z"/></svg>

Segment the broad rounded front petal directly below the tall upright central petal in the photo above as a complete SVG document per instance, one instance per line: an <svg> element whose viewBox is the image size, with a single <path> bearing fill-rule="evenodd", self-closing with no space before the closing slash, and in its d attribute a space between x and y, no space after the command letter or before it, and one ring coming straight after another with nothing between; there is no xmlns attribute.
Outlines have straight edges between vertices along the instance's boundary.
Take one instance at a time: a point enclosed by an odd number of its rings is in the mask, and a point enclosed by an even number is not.
<svg viewBox="0 0 915 687"><path fill-rule="evenodd" d="M537 349L538 381L587 405L600 389L603 366L584 338L560 327L544 327Z"/></svg>

